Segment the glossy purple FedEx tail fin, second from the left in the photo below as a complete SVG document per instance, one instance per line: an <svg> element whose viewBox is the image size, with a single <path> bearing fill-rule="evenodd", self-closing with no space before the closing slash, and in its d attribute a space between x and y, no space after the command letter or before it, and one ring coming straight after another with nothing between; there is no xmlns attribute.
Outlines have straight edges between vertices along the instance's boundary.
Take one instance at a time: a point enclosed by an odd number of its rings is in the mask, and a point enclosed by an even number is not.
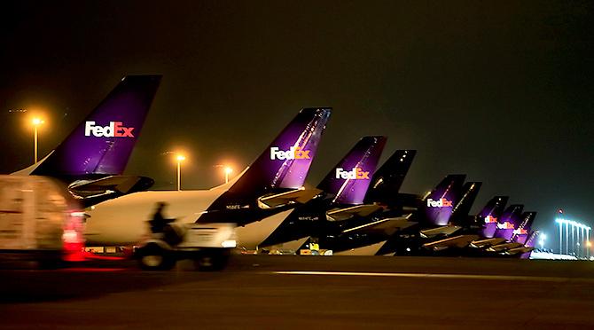
<svg viewBox="0 0 594 330"><path fill-rule="evenodd" d="M302 109L229 191L241 195L301 188L331 112L328 107Z"/></svg>

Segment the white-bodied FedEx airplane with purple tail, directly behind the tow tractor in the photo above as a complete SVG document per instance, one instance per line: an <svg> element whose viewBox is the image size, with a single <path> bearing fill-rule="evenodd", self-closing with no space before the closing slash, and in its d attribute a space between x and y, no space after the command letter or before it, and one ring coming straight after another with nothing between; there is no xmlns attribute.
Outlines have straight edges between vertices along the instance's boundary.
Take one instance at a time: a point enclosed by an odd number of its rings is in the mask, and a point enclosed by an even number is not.
<svg viewBox="0 0 594 330"><path fill-rule="evenodd" d="M88 210L85 239L104 246L134 245L148 233L156 205L180 223L238 224L238 247L252 249L297 204L321 193L304 189L331 108L302 109L254 163L227 184L209 190L131 193Z"/></svg>

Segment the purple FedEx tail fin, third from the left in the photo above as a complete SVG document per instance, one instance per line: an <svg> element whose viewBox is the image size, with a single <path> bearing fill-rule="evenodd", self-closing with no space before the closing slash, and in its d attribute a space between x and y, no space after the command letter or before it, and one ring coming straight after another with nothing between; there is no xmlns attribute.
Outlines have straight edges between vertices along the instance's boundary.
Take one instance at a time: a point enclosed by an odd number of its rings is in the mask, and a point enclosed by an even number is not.
<svg viewBox="0 0 594 330"><path fill-rule="evenodd" d="M317 185L339 204L362 204L378 166L386 137L363 137Z"/></svg>

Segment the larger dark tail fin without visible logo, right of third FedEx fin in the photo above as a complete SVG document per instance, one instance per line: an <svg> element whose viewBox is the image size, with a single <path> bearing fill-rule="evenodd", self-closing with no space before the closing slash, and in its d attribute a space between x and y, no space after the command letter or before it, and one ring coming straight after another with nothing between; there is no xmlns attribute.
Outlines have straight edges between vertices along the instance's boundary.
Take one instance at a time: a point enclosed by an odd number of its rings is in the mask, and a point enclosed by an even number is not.
<svg viewBox="0 0 594 330"><path fill-rule="evenodd" d="M416 150L396 150L371 177L364 202L394 204L416 154Z"/></svg>

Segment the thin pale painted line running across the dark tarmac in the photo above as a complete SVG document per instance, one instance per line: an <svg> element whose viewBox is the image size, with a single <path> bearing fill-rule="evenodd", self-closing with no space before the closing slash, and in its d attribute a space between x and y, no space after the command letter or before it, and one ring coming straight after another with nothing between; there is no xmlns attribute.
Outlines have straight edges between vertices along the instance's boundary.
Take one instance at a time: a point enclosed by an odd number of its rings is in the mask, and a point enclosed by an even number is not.
<svg viewBox="0 0 594 330"><path fill-rule="evenodd" d="M594 283L594 279L556 278L543 276L512 276L512 275L470 275L470 274L435 274L414 272L358 272L358 271L272 271L280 275L330 275L330 276L368 276L410 279L487 279L487 280L523 280L535 282L567 282L579 281Z"/></svg>

